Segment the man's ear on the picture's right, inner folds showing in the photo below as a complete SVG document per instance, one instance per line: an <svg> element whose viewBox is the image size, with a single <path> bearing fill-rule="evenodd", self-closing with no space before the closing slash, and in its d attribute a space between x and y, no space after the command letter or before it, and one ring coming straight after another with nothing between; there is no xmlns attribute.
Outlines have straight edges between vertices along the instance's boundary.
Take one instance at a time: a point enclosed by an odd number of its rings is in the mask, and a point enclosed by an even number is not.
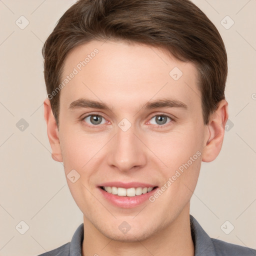
<svg viewBox="0 0 256 256"><path fill-rule="evenodd" d="M206 127L207 135L205 138L207 142L202 150L202 161L213 161L219 154L224 138L227 118L227 102L225 99L222 99L217 109L209 117L209 122Z"/></svg>

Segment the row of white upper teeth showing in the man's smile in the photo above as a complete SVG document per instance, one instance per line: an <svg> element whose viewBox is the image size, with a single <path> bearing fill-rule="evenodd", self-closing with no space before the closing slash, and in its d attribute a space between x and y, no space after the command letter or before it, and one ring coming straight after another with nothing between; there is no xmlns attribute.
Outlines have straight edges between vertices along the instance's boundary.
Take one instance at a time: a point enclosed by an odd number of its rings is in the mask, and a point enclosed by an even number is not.
<svg viewBox="0 0 256 256"><path fill-rule="evenodd" d="M153 187L116 187L116 186L104 186L104 190L111 194L117 194L119 196L135 196L145 194L152 191Z"/></svg>

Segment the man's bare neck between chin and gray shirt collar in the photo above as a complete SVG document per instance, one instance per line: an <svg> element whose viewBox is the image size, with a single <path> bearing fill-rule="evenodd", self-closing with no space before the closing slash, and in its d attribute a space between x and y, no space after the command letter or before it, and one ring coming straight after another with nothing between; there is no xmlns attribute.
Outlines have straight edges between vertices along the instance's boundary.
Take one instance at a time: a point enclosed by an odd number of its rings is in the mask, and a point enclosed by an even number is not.
<svg viewBox="0 0 256 256"><path fill-rule="evenodd" d="M133 255L133 256L193 256L194 244L189 221L189 203L171 222L150 237L136 241L118 241L106 237L92 223L83 217L84 236L82 256L88 255Z"/></svg>

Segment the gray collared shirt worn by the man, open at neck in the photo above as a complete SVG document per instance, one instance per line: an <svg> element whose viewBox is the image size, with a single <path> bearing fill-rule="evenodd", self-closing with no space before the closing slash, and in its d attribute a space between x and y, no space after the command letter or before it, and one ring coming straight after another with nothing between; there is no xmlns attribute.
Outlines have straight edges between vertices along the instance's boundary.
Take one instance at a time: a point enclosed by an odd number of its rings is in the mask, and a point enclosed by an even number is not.
<svg viewBox="0 0 256 256"><path fill-rule="evenodd" d="M194 256L256 256L256 250L210 238L196 219L190 215L191 235L194 243ZM83 223L73 234L70 242L38 256L82 256Z"/></svg>

